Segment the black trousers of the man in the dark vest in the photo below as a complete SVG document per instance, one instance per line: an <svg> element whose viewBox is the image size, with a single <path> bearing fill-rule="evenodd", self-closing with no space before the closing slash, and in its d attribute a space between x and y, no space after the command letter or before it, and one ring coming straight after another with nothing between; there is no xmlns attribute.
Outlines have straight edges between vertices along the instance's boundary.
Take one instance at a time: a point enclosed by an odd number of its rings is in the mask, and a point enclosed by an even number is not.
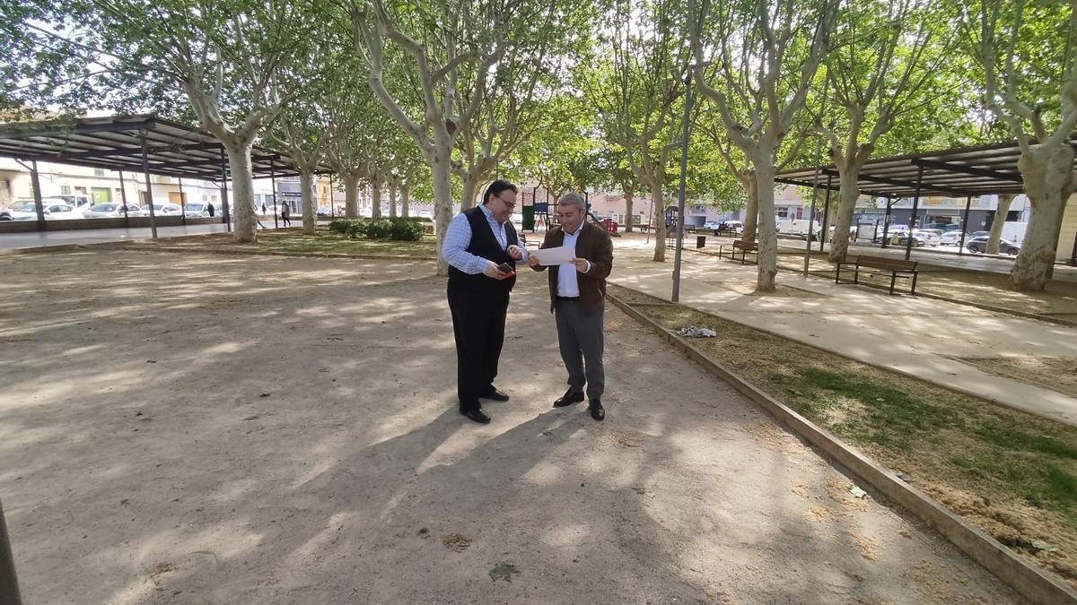
<svg viewBox="0 0 1077 605"><path fill-rule="evenodd" d="M479 396L498 376L508 293L449 284L448 297L457 340L457 396L460 410L470 411L479 407Z"/></svg>

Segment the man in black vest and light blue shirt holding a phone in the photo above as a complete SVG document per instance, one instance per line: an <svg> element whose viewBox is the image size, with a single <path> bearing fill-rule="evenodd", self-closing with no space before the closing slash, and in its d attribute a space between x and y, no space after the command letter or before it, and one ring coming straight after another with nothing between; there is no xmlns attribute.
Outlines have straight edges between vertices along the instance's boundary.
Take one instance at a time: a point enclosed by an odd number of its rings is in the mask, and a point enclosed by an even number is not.
<svg viewBox="0 0 1077 605"><path fill-rule="evenodd" d="M457 396L460 413L486 424L490 414L479 398L507 402L493 385L505 340L508 293L516 283L516 262L527 250L516 238L509 217L516 208L516 186L494 181L482 206L458 214L445 233L442 254L449 264L449 310L457 340ZM510 271L499 266L508 265Z"/></svg>

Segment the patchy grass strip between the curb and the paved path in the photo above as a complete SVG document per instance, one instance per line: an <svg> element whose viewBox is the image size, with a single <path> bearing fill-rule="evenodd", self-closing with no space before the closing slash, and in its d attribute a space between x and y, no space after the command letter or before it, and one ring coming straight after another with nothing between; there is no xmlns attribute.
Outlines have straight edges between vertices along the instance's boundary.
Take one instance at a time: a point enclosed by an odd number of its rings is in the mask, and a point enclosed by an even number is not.
<svg viewBox="0 0 1077 605"><path fill-rule="evenodd" d="M714 329L694 346L988 533L1058 546L1019 552L1077 586L1077 427L610 289L667 329Z"/></svg>

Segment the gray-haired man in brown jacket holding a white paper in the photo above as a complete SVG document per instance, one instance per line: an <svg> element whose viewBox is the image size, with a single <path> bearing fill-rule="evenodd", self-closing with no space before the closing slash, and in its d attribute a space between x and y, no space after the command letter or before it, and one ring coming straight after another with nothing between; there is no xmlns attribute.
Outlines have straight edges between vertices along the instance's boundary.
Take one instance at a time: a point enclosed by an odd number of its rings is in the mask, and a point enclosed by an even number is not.
<svg viewBox="0 0 1077 605"><path fill-rule="evenodd" d="M613 268L613 241L605 229L586 223L584 212L584 198L574 193L562 196L557 202L561 225L547 231L540 247L568 245L576 251L572 264L549 268L549 307L557 322L561 360L569 370L569 390L554 407L583 402L586 383L591 418L602 420L602 311L605 279ZM528 265L536 271L546 268L534 256Z"/></svg>

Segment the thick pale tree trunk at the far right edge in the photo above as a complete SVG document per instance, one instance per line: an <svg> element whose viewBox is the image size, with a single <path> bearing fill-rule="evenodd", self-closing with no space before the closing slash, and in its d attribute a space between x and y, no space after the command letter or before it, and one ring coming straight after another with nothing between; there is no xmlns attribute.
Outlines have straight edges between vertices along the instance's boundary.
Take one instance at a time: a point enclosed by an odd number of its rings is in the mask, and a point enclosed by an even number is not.
<svg viewBox="0 0 1077 605"><path fill-rule="evenodd" d="M1010 271L1013 290L1040 292L1051 279L1062 214L1073 193L1073 164L1074 150L1068 144L1034 145L1018 160L1024 191L1032 203L1032 215L1021 252ZM1005 216L1001 219L1006 220Z"/></svg>

